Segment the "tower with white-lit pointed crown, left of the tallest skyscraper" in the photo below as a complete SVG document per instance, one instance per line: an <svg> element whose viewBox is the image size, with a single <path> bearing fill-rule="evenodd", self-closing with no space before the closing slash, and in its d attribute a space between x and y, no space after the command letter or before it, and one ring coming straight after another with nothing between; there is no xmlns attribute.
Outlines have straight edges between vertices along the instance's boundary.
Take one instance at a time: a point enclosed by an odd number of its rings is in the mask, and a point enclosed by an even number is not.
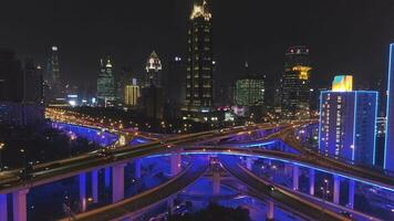
<svg viewBox="0 0 394 221"><path fill-rule="evenodd" d="M158 59L155 51L153 51L146 61L146 80L145 86L154 85L156 87L163 86L163 77L160 75L162 61Z"/></svg>

